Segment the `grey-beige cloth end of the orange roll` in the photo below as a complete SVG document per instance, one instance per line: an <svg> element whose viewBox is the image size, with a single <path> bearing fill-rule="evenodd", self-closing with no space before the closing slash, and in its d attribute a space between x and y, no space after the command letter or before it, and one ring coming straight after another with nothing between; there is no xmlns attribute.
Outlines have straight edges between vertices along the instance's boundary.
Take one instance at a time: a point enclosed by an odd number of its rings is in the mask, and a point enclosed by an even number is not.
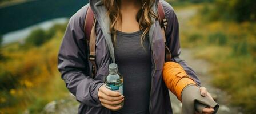
<svg viewBox="0 0 256 114"><path fill-rule="evenodd" d="M201 96L200 90L194 84L186 86L182 93L182 114L193 114L195 111L202 113L203 108L213 107L214 114L217 113L219 105L211 100L209 96Z"/></svg>

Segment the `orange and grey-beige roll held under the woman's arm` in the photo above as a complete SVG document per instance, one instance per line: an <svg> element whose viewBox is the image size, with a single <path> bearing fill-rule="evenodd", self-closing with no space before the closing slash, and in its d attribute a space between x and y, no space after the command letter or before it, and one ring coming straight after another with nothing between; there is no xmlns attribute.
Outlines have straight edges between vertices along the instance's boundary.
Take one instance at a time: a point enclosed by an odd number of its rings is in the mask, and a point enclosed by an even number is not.
<svg viewBox="0 0 256 114"><path fill-rule="evenodd" d="M209 96L202 97L199 87L175 62L166 62L163 66L163 81L166 86L182 102L182 113L202 112L205 107L214 107L217 112L219 105Z"/></svg>

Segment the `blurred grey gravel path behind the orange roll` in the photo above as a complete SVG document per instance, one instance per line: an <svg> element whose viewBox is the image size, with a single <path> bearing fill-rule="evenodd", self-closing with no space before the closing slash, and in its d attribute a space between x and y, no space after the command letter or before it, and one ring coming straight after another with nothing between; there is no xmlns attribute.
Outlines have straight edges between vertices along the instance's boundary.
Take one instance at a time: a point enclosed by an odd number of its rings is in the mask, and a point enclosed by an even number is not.
<svg viewBox="0 0 256 114"><path fill-rule="evenodd" d="M225 92L221 91L221 89L215 88L211 85L210 81L213 78L213 75L210 74L209 70L211 69L211 64L206 60L197 59L193 57L193 51L190 49L182 49L181 58L184 59L187 64L195 72L197 73L199 79L201 80L202 86L205 86L207 90L217 99L217 103L219 103L219 111L218 114L229 114L229 113L241 113L238 111L238 108L231 107L228 104L227 99L229 96L226 95ZM170 93L172 108L174 114L181 113L181 102L177 100L176 96Z"/></svg>

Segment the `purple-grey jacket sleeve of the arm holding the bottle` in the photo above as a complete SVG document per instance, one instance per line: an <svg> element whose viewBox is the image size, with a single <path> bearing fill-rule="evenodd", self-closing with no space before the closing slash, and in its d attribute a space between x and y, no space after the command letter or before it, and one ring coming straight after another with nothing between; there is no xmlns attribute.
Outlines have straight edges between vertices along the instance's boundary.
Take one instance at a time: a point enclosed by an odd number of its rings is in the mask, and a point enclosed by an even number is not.
<svg viewBox="0 0 256 114"><path fill-rule="evenodd" d="M58 70L67 89L80 103L99 107L98 89L103 82L88 74L87 44L83 24L87 6L78 10L69 20L58 53Z"/></svg>

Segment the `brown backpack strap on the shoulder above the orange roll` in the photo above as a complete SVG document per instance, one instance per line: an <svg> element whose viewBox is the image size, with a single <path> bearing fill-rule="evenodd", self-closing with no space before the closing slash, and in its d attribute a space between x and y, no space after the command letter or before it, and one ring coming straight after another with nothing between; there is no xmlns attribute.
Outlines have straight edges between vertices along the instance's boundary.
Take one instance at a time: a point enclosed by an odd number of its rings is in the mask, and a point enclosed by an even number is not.
<svg viewBox="0 0 256 114"><path fill-rule="evenodd" d="M165 36L165 28L167 26L167 19L165 18L165 11L163 10L163 6L160 2L158 2L158 21L161 26L161 31L162 31L162 36L163 40L165 42L165 61L170 61L171 60L171 52L169 48L167 47L166 43L166 36Z"/></svg>

